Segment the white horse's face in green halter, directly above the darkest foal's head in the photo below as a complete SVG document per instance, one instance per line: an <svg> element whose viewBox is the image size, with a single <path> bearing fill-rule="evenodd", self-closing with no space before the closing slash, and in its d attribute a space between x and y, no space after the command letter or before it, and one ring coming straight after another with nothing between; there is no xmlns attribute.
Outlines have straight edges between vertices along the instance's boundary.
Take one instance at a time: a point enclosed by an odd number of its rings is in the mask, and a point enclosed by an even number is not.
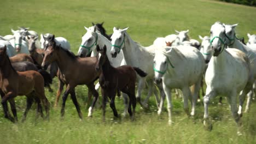
<svg viewBox="0 0 256 144"><path fill-rule="evenodd" d="M110 38L112 44L110 53L112 57L117 57L118 53L123 49L125 43L125 32L128 28L129 27L124 29L113 28L113 34Z"/></svg>

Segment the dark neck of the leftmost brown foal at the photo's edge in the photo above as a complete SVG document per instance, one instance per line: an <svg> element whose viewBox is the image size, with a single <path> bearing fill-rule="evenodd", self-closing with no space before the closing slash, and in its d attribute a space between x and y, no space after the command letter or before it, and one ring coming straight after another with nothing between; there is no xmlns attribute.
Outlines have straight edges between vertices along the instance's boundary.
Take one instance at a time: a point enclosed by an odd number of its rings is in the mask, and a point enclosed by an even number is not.
<svg viewBox="0 0 256 144"><path fill-rule="evenodd" d="M17 74L17 71L14 70L7 56L5 63L2 67L0 67L0 77L2 77L1 80L4 79L4 77L13 76L13 74Z"/></svg>

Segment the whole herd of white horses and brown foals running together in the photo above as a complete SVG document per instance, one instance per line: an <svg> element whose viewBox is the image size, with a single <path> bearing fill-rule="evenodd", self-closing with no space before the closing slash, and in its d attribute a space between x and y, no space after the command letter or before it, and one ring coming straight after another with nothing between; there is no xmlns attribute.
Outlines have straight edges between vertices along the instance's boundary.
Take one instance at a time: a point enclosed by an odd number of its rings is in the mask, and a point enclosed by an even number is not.
<svg viewBox="0 0 256 144"><path fill-rule="evenodd" d="M119 117L114 103L117 93L120 95L120 92L123 92L124 115L128 112L132 119L136 103L147 109L149 97L154 93L159 115L166 97L168 123L171 124L171 90L181 89L184 111L188 116L194 116L196 100L199 98L205 77L207 88L203 94L203 124L209 129L212 128L208 118L210 100L217 95L226 96L232 116L238 125L237 134L241 134L243 103L247 95L247 112L256 92L255 35L248 34L249 41L245 45L244 41L236 37L237 24L225 25L216 22L211 27L210 37L199 35L202 43L190 39L187 30L157 38L153 45L143 47L132 40L127 33L128 28L114 27L113 34L108 35L103 23L92 25L89 28L84 27L87 32L82 37L77 55L71 52L70 44L65 38L55 38L55 35L50 33L41 34L39 40L36 32L20 27L17 31L11 29L13 35L0 36L0 93L5 118L11 122L18 121L14 98L17 95L26 95L27 104L22 121L26 119L33 101L37 103L36 118L40 115L49 119L50 103L45 96L44 87L53 92L50 84L57 76L59 88L54 106L59 103L61 92L66 85L62 96L61 116L65 115L66 99L70 94L79 118L83 118L75 87L86 85L89 101L92 95L94 96L88 117L92 116L98 99L98 89L101 88L103 119L108 98L114 116ZM141 93L146 84L148 94L142 101ZM9 113L7 102L13 116ZM43 107L46 116L43 114Z"/></svg>

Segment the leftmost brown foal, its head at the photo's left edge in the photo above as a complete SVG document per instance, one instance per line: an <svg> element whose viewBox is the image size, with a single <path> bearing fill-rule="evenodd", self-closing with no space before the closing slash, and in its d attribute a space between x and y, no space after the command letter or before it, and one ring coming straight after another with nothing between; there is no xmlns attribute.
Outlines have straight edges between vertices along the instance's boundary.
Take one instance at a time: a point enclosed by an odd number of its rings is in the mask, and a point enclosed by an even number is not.
<svg viewBox="0 0 256 144"><path fill-rule="evenodd" d="M42 101L46 111L46 118L49 119L50 103L44 94L43 76L34 70L24 72L16 71L11 66L6 51L6 46L0 49L0 93L2 97L1 103L3 105L4 117L13 122L18 121L14 98L17 95L26 95L27 106L22 121L26 119L27 112L31 108L33 99L38 103L37 112L40 112L41 116L43 115L42 107L40 106L40 102ZM11 111L13 112L14 118L9 115L7 100L11 104Z"/></svg>

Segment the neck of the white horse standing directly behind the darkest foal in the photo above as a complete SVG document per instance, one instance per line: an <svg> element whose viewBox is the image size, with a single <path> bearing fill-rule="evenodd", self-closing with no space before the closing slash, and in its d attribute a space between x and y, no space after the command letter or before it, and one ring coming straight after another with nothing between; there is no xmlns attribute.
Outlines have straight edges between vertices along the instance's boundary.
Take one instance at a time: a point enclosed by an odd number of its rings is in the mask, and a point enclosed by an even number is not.
<svg viewBox="0 0 256 144"><path fill-rule="evenodd" d="M125 44L122 50L125 62L128 65L133 65L132 59L138 59L138 57L143 56L144 52L142 52L140 49L145 50L145 47L135 43L135 41L131 39L130 35L125 32Z"/></svg>

